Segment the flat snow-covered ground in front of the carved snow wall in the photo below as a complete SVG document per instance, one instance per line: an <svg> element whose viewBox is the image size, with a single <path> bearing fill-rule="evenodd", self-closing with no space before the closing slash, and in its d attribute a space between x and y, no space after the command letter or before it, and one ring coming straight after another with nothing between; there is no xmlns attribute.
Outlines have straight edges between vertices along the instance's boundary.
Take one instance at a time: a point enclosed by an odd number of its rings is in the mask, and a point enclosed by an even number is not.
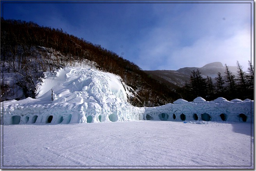
<svg viewBox="0 0 256 171"><path fill-rule="evenodd" d="M1 129L3 169L254 167L250 123L141 120Z"/></svg>

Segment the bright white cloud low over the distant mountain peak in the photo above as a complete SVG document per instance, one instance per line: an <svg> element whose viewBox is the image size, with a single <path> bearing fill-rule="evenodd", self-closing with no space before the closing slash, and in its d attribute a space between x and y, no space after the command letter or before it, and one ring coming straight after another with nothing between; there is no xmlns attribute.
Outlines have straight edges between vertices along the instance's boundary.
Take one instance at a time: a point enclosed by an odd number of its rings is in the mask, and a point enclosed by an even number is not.
<svg viewBox="0 0 256 171"><path fill-rule="evenodd" d="M244 68L247 68L248 60L251 60L250 32L245 29L226 39L214 36L200 38L191 46L173 51L160 68L164 69L172 65L202 67L216 61L229 66L236 66L236 62L239 61Z"/></svg>

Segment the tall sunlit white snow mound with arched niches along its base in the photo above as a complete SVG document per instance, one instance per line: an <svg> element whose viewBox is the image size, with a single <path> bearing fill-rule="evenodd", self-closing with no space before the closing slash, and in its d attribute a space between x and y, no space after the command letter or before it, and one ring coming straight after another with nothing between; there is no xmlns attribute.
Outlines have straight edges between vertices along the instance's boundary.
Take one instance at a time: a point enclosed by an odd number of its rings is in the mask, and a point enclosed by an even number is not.
<svg viewBox="0 0 256 171"><path fill-rule="evenodd" d="M37 99L4 101L4 124L143 119L143 109L127 102L129 92L117 75L90 67L72 67L46 72L45 77L37 87Z"/></svg>

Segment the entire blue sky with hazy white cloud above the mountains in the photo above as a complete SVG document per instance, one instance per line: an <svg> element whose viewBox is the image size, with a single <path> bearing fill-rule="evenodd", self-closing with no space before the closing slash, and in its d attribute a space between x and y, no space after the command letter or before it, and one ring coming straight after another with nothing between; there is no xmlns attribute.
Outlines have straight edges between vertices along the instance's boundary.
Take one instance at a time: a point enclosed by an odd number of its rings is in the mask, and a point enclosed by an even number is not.
<svg viewBox="0 0 256 171"><path fill-rule="evenodd" d="M62 28L143 70L253 62L253 1L131 2L1 1L1 17Z"/></svg>

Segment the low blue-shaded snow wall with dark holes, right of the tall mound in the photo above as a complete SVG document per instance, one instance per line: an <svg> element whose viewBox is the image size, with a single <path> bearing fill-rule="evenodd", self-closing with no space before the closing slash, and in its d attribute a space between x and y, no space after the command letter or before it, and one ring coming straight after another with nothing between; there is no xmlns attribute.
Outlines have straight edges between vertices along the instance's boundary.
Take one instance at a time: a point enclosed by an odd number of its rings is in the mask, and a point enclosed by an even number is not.
<svg viewBox="0 0 256 171"><path fill-rule="evenodd" d="M205 121L231 121L231 122L253 122L254 101L245 99L234 99L231 101L225 98L217 98L213 101L205 101L198 97L192 102L178 99L173 104L155 108L145 108L145 114L152 119L163 120L159 113L165 113L166 120L205 120Z"/></svg>

